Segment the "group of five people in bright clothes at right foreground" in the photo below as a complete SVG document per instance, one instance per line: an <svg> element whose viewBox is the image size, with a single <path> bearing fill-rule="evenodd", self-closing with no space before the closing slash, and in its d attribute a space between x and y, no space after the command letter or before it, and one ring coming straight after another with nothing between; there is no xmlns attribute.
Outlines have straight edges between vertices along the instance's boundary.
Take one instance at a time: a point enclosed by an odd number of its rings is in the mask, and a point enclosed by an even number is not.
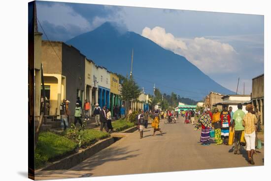
<svg viewBox="0 0 271 181"><path fill-rule="evenodd" d="M215 144L228 145L229 132L234 130L234 154L240 154L240 148L246 144L248 163L254 165L253 154L255 145L257 145L257 132L260 131L260 115L258 109L253 111L253 105L247 104L245 113L242 110L242 104L237 105L238 110L233 111L232 107L223 107L221 112L217 108L214 112L210 109L204 109L195 126L195 131L201 129L200 142L202 145L210 144L210 131L214 128ZM245 143L242 143L242 136Z"/></svg>

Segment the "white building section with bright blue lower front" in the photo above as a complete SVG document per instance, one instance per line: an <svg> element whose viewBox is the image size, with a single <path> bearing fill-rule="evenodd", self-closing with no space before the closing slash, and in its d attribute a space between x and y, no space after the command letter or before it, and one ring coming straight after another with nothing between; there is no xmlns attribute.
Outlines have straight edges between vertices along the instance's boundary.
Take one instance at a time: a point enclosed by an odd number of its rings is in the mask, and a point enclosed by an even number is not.
<svg viewBox="0 0 271 181"><path fill-rule="evenodd" d="M110 72L98 66L98 103L100 107L110 108Z"/></svg>

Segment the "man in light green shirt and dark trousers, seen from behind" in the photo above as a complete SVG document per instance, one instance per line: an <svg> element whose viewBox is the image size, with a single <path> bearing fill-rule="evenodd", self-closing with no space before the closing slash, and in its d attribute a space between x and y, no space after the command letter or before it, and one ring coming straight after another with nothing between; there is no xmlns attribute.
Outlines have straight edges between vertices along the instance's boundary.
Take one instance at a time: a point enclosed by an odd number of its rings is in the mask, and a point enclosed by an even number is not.
<svg viewBox="0 0 271 181"><path fill-rule="evenodd" d="M242 120L245 115L245 112L242 111L242 104L237 105L238 110L235 111L233 115L233 124L232 124L232 129L235 129L235 149L234 149L234 154L240 154L240 139L242 135L242 131L244 130L244 127L242 125Z"/></svg>

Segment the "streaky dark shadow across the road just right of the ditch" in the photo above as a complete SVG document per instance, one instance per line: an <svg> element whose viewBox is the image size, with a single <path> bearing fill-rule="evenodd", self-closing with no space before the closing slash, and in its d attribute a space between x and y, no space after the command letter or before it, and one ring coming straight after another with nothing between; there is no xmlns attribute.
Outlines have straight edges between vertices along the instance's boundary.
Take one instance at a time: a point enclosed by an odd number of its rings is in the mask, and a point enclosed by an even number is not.
<svg viewBox="0 0 271 181"><path fill-rule="evenodd" d="M95 167L102 165L105 162L109 161L118 161L118 160L127 160L129 158L133 158L138 156L139 154L131 154L136 150L128 150L128 146L125 147L112 147L107 148L106 150L102 150L99 153L95 154L92 158L89 158L80 165L77 165L71 168L71 171L83 171L87 170L90 171Z"/></svg>

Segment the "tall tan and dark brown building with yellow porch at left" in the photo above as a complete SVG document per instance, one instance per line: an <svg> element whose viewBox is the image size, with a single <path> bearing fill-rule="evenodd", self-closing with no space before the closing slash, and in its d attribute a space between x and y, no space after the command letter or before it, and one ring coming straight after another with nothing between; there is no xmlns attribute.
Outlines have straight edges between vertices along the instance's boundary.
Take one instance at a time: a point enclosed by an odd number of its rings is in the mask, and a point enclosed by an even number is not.
<svg viewBox="0 0 271 181"><path fill-rule="evenodd" d="M73 119L76 97L84 102L85 56L62 41L42 40L41 62L50 104L49 114L60 115L60 104L66 98L70 101L69 110Z"/></svg>

